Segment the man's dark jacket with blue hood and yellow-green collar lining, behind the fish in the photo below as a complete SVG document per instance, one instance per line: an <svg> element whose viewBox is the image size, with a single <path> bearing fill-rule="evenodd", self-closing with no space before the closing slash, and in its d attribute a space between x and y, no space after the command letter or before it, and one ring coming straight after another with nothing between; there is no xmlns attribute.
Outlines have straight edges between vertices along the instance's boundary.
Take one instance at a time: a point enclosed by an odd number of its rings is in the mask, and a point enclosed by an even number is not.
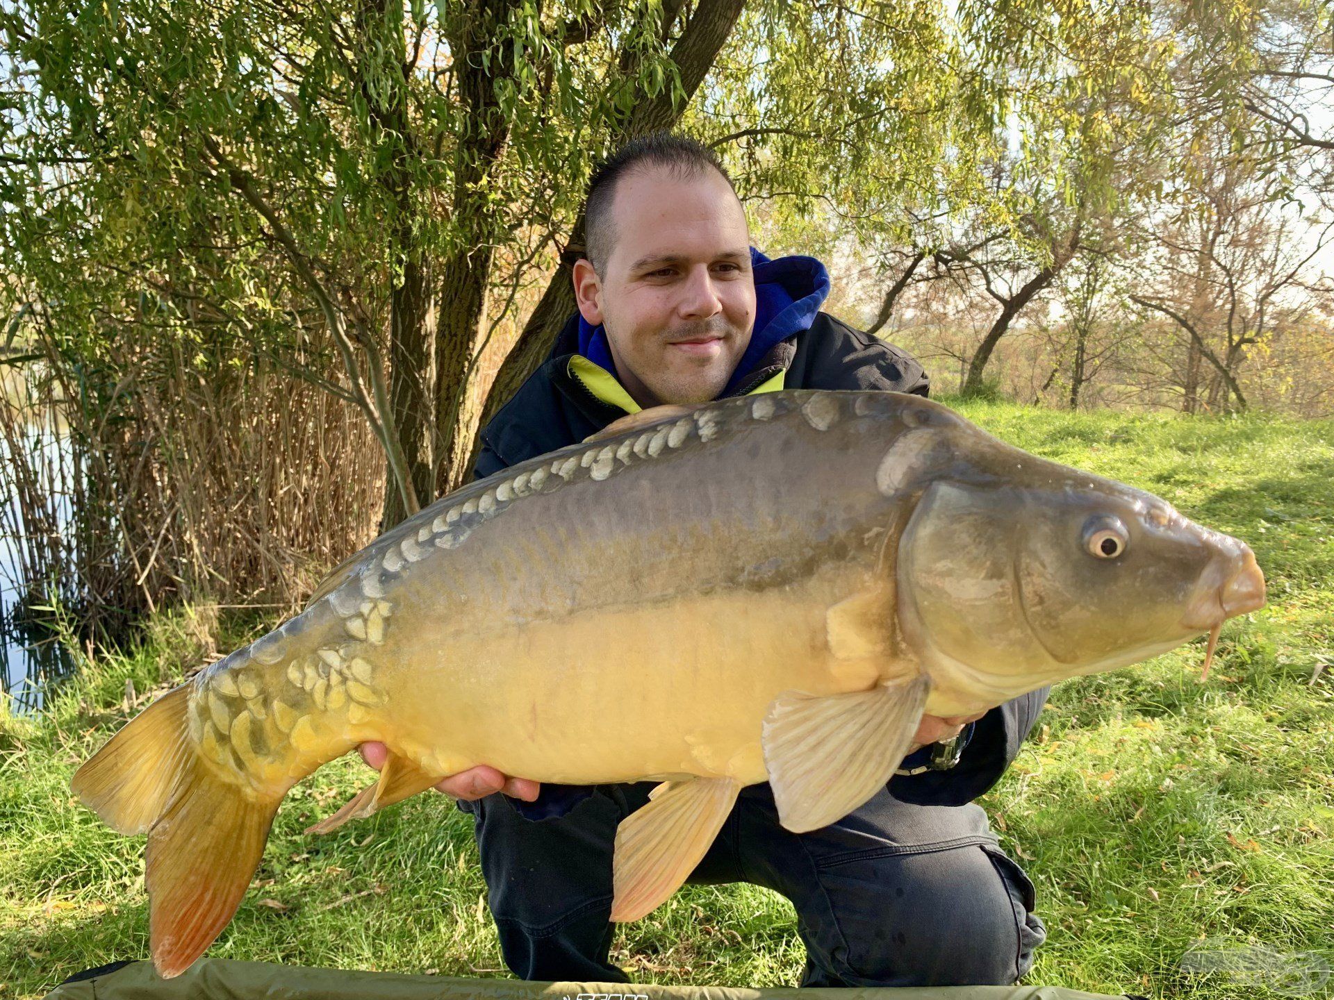
<svg viewBox="0 0 1334 1000"><path fill-rule="evenodd" d="M776 387L927 395L927 375L912 356L819 311L828 293L823 264L799 256L770 261L754 248L751 259L756 332L720 397ZM588 372L596 377L588 379ZM547 361L482 429L476 477L582 441L631 412L635 404L623 389L616 392L614 372L602 328L572 316ZM895 776L890 791L900 800L923 805L972 801L1015 759L1049 691L1041 688L994 708L966 731L967 744L958 764L948 771ZM924 764L927 753L928 748L923 748L903 765ZM532 819L544 819L563 815L586 795L588 789L546 784L538 801L514 804Z"/></svg>

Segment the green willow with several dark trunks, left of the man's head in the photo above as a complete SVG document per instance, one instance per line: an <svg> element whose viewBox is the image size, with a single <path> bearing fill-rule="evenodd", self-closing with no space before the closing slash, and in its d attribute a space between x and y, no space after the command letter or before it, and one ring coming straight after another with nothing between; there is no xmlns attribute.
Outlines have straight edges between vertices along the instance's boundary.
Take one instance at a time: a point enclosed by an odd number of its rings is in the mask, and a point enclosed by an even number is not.
<svg viewBox="0 0 1334 1000"><path fill-rule="evenodd" d="M636 111L671 124L740 5L16 5L9 267L45 309L115 273L211 299L248 340L313 320L384 448L392 523L463 475L498 251L559 235ZM228 280L200 288L204 260ZM267 332L255 349L281 352Z"/></svg>

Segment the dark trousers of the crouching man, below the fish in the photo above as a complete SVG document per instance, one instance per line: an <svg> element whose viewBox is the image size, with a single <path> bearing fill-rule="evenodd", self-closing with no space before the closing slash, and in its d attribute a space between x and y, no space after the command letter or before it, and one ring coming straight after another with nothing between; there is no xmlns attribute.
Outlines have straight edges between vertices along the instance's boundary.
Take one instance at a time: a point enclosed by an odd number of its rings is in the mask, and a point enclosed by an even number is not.
<svg viewBox="0 0 1334 1000"><path fill-rule="evenodd" d="M459 803L475 835L506 964L520 979L627 983L608 960L616 824L655 781L599 785L558 819L504 795ZM796 909L803 987L1010 985L1046 940L1033 883L978 805L910 805L882 789L822 829L778 823L768 784L742 789L690 883L748 881Z"/></svg>

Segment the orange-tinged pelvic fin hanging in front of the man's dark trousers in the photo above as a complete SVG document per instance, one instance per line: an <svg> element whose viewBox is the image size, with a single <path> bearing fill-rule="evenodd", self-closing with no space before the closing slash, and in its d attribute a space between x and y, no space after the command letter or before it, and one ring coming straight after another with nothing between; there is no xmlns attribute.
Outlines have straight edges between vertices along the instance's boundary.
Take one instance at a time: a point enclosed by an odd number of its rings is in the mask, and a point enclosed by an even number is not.
<svg viewBox="0 0 1334 1000"><path fill-rule="evenodd" d="M611 919L651 913L690 877L732 811L740 783L730 777L664 781L648 804L616 828Z"/></svg>

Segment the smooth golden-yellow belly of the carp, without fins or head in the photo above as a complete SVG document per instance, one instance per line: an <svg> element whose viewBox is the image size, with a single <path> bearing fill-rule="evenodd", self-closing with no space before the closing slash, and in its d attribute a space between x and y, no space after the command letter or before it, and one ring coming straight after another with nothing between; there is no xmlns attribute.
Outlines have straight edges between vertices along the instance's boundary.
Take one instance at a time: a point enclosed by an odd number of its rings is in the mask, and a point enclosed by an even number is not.
<svg viewBox="0 0 1334 1000"><path fill-rule="evenodd" d="M826 612L854 576L404 643L387 651L398 659L386 724L399 752L442 775L486 763L570 784L763 781L760 723L775 695L864 691L883 676L882 657L830 651Z"/></svg>

